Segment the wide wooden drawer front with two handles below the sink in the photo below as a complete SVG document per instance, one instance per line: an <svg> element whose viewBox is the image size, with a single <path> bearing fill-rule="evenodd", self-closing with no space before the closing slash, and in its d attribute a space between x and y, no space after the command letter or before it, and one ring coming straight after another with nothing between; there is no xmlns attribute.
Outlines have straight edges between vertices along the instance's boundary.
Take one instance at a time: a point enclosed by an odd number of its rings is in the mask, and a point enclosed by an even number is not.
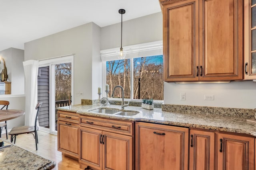
<svg viewBox="0 0 256 170"><path fill-rule="evenodd" d="M95 117L80 116L80 125L86 127L100 128L104 131L133 135L133 123L127 121L116 121L112 119L103 119Z"/></svg>

